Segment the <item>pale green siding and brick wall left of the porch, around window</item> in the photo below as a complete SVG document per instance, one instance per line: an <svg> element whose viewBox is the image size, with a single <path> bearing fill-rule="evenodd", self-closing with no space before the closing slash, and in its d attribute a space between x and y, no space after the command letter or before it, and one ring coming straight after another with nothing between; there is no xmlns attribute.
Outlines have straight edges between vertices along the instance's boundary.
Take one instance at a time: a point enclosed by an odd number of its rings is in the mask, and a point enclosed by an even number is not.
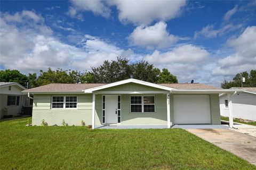
<svg viewBox="0 0 256 170"><path fill-rule="evenodd" d="M51 109L52 96L63 95L34 95L33 125L41 125L44 119L49 125L61 125L65 120L69 125L92 124L92 94L65 95L77 96L77 109Z"/></svg>

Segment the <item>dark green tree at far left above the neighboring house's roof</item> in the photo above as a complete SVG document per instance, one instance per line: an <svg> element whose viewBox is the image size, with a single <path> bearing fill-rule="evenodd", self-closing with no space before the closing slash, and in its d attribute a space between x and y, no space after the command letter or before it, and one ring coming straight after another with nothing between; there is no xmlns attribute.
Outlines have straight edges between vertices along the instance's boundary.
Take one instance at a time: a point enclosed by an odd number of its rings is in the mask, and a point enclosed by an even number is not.
<svg viewBox="0 0 256 170"><path fill-rule="evenodd" d="M25 74L21 74L18 70L0 70L0 81L3 82L17 82L22 86L26 87L27 84L27 76Z"/></svg>

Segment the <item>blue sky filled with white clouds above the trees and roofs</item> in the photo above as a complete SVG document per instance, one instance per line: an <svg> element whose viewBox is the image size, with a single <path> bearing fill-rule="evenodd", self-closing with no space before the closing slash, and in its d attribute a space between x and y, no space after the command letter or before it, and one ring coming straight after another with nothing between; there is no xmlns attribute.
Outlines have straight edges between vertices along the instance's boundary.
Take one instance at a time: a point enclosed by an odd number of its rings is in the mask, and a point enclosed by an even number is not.
<svg viewBox="0 0 256 170"><path fill-rule="evenodd" d="M256 1L0 1L0 68L90 71L126 57L219 86L256 69Z"/></svg>

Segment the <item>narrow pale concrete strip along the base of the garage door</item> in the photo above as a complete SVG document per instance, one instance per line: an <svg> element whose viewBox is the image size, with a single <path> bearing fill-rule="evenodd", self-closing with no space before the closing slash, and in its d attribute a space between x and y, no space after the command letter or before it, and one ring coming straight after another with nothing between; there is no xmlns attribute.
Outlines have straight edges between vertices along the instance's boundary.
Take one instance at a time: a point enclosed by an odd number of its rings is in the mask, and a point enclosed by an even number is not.
<svg viewBox="0 0 256 170"><path fill-rule="evenodd" d="M175 124L172 128L181 129L228 129L225 125L213 125L213 124Z"/></svg>

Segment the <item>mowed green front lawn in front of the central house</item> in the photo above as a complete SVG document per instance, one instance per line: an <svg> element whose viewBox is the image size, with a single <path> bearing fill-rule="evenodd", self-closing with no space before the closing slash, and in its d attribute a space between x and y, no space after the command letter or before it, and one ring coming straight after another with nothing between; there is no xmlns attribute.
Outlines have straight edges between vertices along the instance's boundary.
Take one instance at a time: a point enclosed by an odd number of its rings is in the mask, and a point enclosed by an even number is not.
<svg viewBox="0 0 256 170"><path fill-rule="evenodd" d="M0 169L255 169L181 129L91 130L0 122Z"/></svg>

